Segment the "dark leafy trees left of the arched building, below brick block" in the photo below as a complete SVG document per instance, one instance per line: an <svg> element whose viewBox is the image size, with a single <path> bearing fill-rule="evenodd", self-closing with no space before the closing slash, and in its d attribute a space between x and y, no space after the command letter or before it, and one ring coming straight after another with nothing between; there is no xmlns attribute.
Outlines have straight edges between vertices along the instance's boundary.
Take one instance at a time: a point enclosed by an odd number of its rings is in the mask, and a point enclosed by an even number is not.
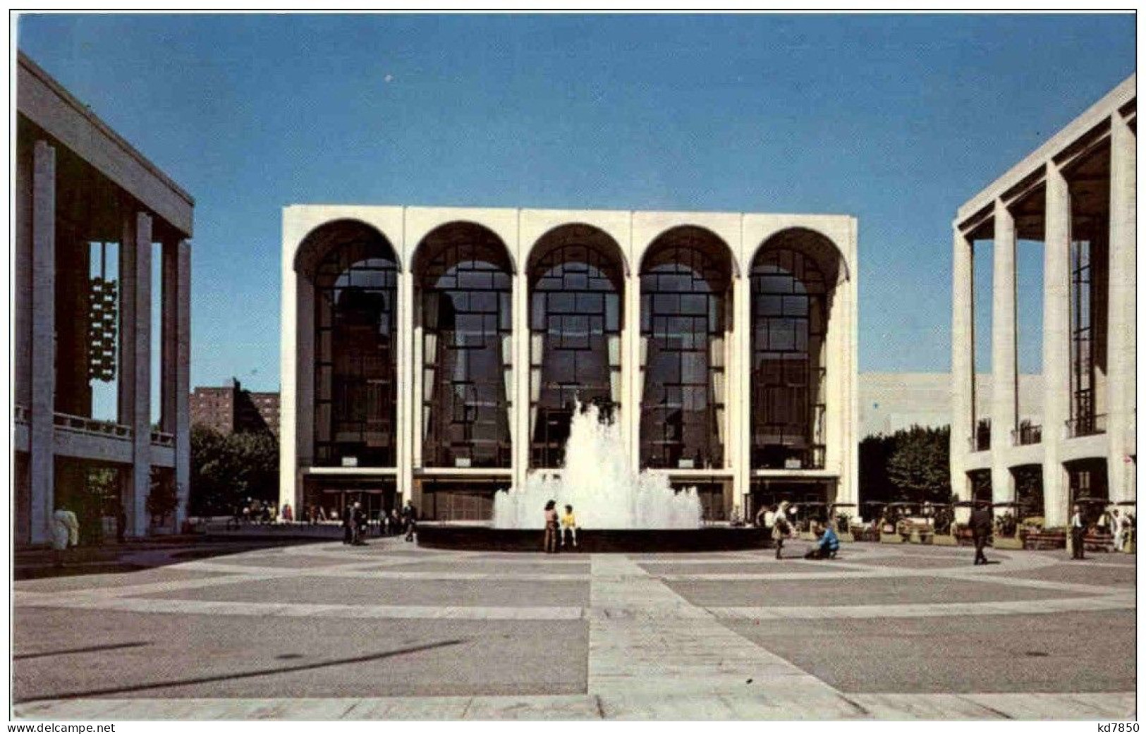
<svg viewBox="0 0 1146 734"><path fill-rule="evenodd" d="M221 434L191 427L191 514L229 514L248 497L278 495L278 440L269 432Z"/></svg>

